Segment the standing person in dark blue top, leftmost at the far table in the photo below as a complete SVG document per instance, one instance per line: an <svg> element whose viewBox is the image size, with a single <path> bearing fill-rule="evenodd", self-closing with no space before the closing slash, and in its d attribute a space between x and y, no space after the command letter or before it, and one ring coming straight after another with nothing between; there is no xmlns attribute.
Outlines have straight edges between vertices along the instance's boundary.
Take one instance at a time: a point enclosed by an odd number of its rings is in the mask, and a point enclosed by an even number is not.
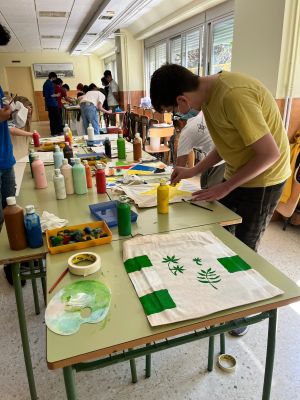
<svg viewBox="0 0 300 400"><path fill-rule="evenodd" d="M55 93L54 81L57 79L55 72L50 72L48 79L43 85L43 96L45 98L45 106L48 111L50 121L50 131L52 136L61 135L62 133L62 119L58 107L57 97L60 93Z"/></svg>

